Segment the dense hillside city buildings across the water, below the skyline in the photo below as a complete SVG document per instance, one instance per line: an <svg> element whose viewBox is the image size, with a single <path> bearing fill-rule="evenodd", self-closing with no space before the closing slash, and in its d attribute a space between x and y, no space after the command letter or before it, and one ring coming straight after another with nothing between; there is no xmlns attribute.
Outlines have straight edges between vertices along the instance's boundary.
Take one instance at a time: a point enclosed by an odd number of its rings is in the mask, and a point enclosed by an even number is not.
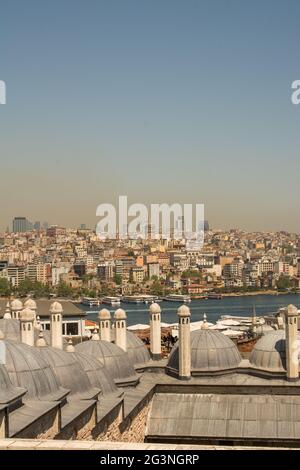
<svg viewBox="0 0 300 470"><path fill-rule="evenodd" d="M204 246L185 240L99 240L78 229L25 217L0 237L0 293L36 297L185 294L201 298L300 288L300 235L210 229Z"/></svg>

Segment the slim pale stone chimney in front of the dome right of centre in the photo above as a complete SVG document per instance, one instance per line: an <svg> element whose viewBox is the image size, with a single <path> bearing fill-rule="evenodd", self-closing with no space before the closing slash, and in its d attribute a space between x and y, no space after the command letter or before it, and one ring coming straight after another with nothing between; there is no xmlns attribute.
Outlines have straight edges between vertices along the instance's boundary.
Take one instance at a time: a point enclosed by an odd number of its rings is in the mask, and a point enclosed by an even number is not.
<svg viewBox="0 0 300 470"><path fill-rule="evenodd" d="M179 379L189 380L191 378L191 330L190 309L182 305L178 309L179 324Z"/></svg>

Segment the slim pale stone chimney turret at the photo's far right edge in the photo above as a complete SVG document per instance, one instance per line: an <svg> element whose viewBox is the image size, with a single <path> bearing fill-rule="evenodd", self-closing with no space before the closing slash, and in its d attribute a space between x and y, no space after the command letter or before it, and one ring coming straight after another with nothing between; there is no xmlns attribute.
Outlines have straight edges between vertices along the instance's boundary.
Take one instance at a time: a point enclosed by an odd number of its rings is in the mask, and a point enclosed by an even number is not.
<svg viewBox="0 0 300 470"><path fill-rule="evenodd" d="M295 305L289 305L284 313L287 379L296 382L299 380L298 309Z"/></svg>

